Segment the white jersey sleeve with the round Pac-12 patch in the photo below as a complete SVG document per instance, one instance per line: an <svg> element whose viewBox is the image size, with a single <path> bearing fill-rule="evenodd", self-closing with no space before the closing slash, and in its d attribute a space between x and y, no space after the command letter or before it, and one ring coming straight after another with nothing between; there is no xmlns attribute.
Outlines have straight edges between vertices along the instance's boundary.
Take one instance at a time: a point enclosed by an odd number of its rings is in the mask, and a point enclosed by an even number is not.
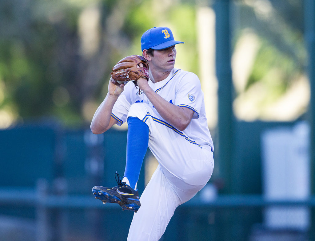
<svg viewBox="0 0 315 241"><path fill-rule="evenodd" d="M193 110L192 118L198 119L202 102L203 92L198 76L193 73L185 74L178 83L174 104Z"/></svg>

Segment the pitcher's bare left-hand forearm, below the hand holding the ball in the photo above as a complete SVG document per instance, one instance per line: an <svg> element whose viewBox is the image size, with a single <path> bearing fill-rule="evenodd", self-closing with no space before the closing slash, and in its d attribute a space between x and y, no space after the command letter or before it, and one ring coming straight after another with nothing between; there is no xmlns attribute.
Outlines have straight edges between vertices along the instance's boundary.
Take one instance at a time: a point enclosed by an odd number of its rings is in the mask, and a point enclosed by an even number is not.
<svg viewBox="0 0 315 241"><path fill-rule="evenodd" d="M90 125L91 131L94 134L104 133L106 130L112 127L112 109L115 102L117 101L117 98L117 96L107 94L104 101L97 108Z"/></svg>

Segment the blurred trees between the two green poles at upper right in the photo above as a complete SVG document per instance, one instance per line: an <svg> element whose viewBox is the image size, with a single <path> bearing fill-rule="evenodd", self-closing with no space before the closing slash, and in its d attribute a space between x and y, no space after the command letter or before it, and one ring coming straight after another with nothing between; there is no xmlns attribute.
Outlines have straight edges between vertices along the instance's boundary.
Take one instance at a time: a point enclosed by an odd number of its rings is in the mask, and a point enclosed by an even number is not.
<svg viewBox="0 0 315 241"><path fill-rule="evenodd" d="M234 49L241 36L248 33L256 36L256 48L252 49L256 51L255 58L248 78L246 83L236 86L234 110L238 117L288 121L306 112L303 3L302 0L234 1ZM300 90L304 96L298 96ZM294 98L294 104L285 98ZM285 108L290 105L290 110Z"/></svg>

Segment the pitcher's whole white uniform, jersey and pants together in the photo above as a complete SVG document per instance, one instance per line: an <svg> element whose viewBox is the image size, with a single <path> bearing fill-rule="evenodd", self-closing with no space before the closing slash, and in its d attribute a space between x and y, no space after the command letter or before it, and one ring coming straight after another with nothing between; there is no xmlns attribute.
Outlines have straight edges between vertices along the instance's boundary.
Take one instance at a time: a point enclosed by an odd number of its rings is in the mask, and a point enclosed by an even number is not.
<svg viewBox="0 0 315 241"><path fill-rule="evenodd" d="M155 84L149 80L149 85L170 103L192 109L194 115L187 128L179 131L132 83L125 85L118 97L112 117L118 125L129 116L145 122L149 127L148 147L159 163L140 197L141 207L134 214L127 241L158 241L176 207L204 187L214 167L213 142L198 77L173 69L166 79Z"/></svg>

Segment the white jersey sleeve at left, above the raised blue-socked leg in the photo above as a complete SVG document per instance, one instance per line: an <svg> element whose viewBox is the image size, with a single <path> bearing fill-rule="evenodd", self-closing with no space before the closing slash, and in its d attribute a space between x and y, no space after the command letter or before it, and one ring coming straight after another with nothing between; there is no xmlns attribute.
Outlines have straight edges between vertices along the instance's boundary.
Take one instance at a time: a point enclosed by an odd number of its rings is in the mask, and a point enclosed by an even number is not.
<svg viewBox="0 0 315 241"><path fill-rule="evenodd" d="M129 83L128 83L129 84ZM117 120L117 125L122 125L127 120L127 114L131 106L130 85L125 85L123 93L120 94L112 109L112 117Z"/></svg>

